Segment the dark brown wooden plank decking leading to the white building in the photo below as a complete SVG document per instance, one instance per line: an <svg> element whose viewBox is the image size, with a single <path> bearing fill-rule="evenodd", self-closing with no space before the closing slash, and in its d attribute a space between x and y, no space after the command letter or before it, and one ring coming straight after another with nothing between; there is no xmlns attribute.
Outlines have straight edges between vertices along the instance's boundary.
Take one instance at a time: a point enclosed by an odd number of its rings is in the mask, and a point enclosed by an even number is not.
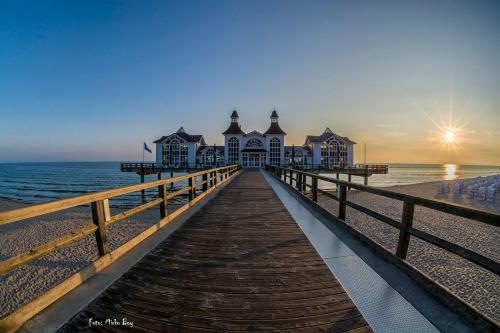
<svg viewBox="0 0 500 333"><path fill-rule="evenodd" d="M371 332L259 171L239 175L60 331Z"/></svg>

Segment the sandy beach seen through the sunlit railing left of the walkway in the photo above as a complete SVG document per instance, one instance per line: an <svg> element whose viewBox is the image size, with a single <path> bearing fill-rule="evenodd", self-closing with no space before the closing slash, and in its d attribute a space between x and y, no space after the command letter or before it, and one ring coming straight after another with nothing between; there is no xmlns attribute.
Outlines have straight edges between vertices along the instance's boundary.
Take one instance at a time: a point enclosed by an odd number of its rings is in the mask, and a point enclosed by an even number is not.
<svg viewBox="0 0 500 333"><path fill-rule="evenodd" d="M25 204L0 199L0 210L23 207ZM178 206L169 206L173 211ZM120 210L111 209L112 214ZM133 238L158 222L158 208L146 210L128 220L112 225L109 230L111 249ZM0 226L0 259L29 251L43 243L92 224L90 207L75 207L61 213L48 214L26 221ZM94 235L35 260L0 276L0 316L14 311L41 295L98 258Z"/></svg>

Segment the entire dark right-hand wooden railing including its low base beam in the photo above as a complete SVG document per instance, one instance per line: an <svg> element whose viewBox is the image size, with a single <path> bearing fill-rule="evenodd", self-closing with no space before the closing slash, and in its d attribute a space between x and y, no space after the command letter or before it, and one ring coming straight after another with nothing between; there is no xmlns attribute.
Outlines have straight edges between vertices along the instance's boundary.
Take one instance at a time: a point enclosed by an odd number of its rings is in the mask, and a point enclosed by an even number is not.
<svg viewBox="0 0 500 333"><path fill-rule="evenodd" d="M498 324L495 323L494 320L479 312L472 305L464 302L460 297L451 293L446 287L443 287L441 284L432 280L426 274L420 272L417 268L408 263L408 261L406 260L406 256L408 253L410 238L416 237L429 244L437 246L438 248L451 252L469 262L479 265L480 267L496 275L500 275L500 264L495 260L492 260L475 251L466 249L461 245L455 244L438 236L432 235L428 232L417 229L413 226L415 206L426 207L454 216L468 218L477 222L489 224L494 227L500 226L500 215L439 200L425 199L380 188L346 182L301 170L285 168L282 166L267 165L266 169L270 171L277 179L298 192L303 198L308 200L313 206L317 207L326 216L332 217L335 220L339 221L341 223L341 226L343 226L347 231L376 250L376 252L382 255L383 258L395 264L406 274L414 278L434 297L438 298L443 303L447 304L452 309L457 311L460 315L467 318L470 322L474 323L477 328L480 328L479 331L491 332L499 329ZM336 194L333 194L331 191L325 191L318 188L319 180L335 184ZM389 216L373 211L370 208L349 201L347 197L349 188L354 188L362 192L372 193L386 198L402 201L403 209L401 212L401 220L397 221ZM337 216L333 215L331 212L327 211L317 203L318 193L321 193L338 201ZM391 227L396 228L399 231L396 252L393 253L385 249L376 241L357 231L352 226L349 226L345 222L346 207L354 208L357 211L360 211L385 224L388 224Z"/></svg>

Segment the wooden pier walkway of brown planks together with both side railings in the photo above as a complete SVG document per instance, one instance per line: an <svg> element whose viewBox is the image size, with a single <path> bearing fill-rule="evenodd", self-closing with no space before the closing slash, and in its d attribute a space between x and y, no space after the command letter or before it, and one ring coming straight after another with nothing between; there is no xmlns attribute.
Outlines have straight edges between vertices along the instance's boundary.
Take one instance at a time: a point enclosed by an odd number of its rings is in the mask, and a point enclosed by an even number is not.
<svg viewBox="0 0 500 333"><path fill-rule="evenodd" d="M338 216L328 215L332 223L345 225L346 208L350 207L399 229L396 253L390 253L355 230L350 232L421 283L443 304L463 314L478 327L478 331L498 329L498 325L489 318L413 268L406 260L410 238L416 237L498 275L498 262L412 225L416 205L497 227L500 226L498 215L301 170L280 166L267 166L267 170L313 205L316 205L318 195L328 195L336 200ZM168 191L171 183L184 184L186 180L187 186ZM318 189L318 180L335 184L337 194L323 193ZM349 201L348 187L403 201L401 220ZM108 199L147 188L157 188L158 198L110 215ZM77 312L61 327L60 332L126 330L123 326L89 326L90 318L127 318L134 323L133 331L141 332L371 331L261 171L242 170L239 165L232 165L0 212L0 224L8 224L90 204L94 222L26 253L4 259L0 262L0 274L33 262L87 235L95 236L99 254L91 265L1 318L0 332L15 332L30 318L126 256L132 248L219 188L220 192L180 229ZM188 201L177 210L168 211L167 202L183 193L189 194ZM158 223L111 251L107 236L109 226L154 206L160 208ZM321 211L321 207L315 207L318 212L327 214Z"/></svg>

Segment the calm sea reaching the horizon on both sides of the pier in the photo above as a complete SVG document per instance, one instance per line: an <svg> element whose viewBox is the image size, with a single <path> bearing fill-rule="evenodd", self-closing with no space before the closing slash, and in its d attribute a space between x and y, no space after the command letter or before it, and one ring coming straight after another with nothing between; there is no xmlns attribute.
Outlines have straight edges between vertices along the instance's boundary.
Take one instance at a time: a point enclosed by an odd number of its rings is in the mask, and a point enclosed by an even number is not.
<svg viewBox="0 0 500 333"><path fill-rule="evenodd" d="M389 173L373 175L370 186L388 187L423 182L474 178L500 174L500 166L456 164L389 164ZM174 176L181 175L175 173ZM323 174L335 177L334 174ZM163 177L169 177L165 173ZM156 180L156 175L146 176L146 181ZM341 179L347 179L341 175ZM352 177L362 183L363 178ZM3 163L0 164L0 198L26 203L51 200L102 191L140 183L135 173L121 172L120 162L54 162L54 163ZM176 184L176 188L187 184ZM327 184L325 186L328 186ZM331 185L330 185L331 186ZM320 187L323 187L320 184ZM157 197L157 189L146 191L146 199ZM183 198L179 198L182 201ZM110 204L115 207L135 206L142 201L140 192L115 197Z"/></svg>

